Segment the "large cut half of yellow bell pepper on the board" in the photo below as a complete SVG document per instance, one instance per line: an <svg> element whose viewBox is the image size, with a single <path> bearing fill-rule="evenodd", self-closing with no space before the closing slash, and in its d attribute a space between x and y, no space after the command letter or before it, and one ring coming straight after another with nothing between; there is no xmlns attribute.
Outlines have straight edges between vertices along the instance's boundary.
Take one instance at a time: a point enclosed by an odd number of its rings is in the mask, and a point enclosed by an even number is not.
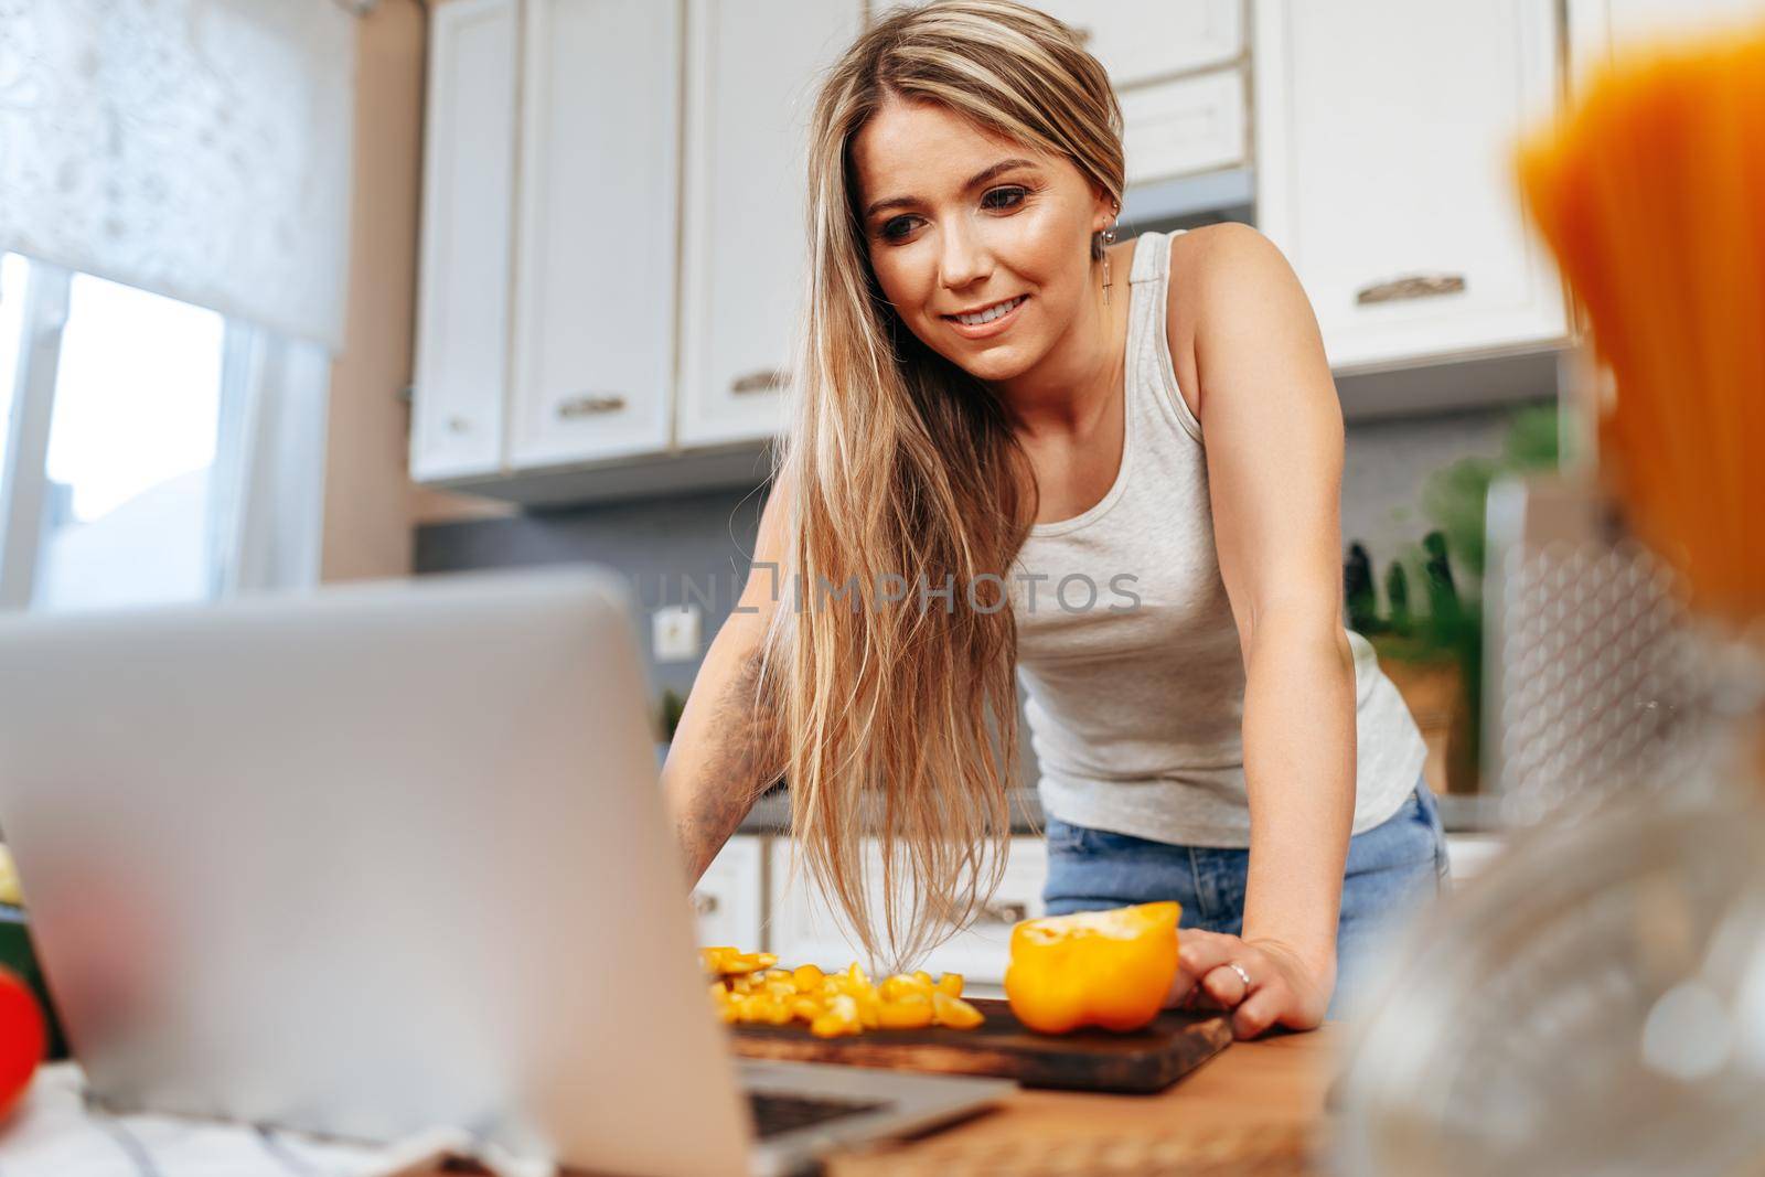
<svg viewBox="0 0 1765 1177"><path fill-rule="evenodd" d="M1163 902L1025 919L1011 928L1004 971L1011 1013L1043 1034L1145 1025L1177 974L1181 916Z"/></svg>

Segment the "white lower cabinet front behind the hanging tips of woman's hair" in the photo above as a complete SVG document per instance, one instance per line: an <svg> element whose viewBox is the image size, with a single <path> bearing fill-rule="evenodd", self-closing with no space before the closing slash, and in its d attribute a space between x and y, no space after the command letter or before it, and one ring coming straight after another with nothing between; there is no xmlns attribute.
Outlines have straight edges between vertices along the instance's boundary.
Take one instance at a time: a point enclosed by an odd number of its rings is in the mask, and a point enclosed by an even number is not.
<svg viewBox="0 0 1765 1177"><path fill-rule="evenodd" d="M870 902L881 912L881 852L867 847ZM840 969L852 960L863 960L856 942L849 941L821 896L807 866L794 886L785 889L791 868L791 840L775 838L771 845L771 882L768 889L768 951L778 960L815 963L822 969ZM920 962L934 976L960 972L976 992L997 992L1004 981L1010 960L1011 925L1041 916L1041 886L1048 873L1047 843L1041 838L1011 838L1004 881L981 914L965 930L932 949Z"/></svg>

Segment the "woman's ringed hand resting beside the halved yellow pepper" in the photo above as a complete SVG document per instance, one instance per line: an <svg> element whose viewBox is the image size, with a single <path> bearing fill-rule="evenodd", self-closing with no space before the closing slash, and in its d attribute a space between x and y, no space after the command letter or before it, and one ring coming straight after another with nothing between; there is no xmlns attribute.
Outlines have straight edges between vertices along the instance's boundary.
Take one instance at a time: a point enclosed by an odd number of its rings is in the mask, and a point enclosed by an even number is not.
<svg viewBox="0 0 1765 1177"><path fill-rule="evenodd" d="M1324 1022L1336 985L1334 960L1318 967L1280 941L1244 941L1197 928L1184 928L1181 939L1167 1006L1232 1009L1237 1038L1255 1038L1271 1025L1311 1031ZM1250 976L1250 985L1232 965Z"/></svg>

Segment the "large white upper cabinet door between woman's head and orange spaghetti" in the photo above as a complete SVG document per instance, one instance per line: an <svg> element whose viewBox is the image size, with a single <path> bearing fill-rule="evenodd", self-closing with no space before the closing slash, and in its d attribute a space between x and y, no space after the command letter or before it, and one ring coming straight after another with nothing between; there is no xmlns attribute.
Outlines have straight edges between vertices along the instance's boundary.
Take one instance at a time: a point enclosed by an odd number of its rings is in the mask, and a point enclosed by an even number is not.
<svg viewBox="0 0 1765 1177"><path fill-rule="evenodd" d="M1525 351L1567 335L1513 152L1558 90L1551 0L1257 0L1257 221L1331 365Z"/></svg>

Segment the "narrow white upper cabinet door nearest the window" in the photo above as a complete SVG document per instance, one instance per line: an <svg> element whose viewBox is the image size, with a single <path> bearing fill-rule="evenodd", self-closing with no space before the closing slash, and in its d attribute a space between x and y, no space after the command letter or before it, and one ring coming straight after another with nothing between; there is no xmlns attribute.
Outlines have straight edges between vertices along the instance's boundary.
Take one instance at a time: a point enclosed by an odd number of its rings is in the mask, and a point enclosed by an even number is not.
<svg viewBox="0 0 1765 1177"><path fill-rule="evenodd" d="M411 476L494 473L508 385L517 0L450 0L429 26Z"/></svg>

